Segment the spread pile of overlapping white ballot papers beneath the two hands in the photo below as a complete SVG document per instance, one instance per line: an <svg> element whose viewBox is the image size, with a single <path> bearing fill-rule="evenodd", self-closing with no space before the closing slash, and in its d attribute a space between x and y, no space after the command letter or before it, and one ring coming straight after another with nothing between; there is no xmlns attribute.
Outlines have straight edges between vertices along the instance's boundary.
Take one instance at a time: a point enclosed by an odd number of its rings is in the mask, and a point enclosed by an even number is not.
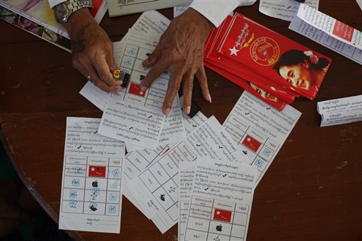
<svg viewBox="0 0 362 241"><path fill-rule="evenodd" d="M67 119L59 228L119 233L124 195L161 233L178 222L178 240L246 240L255 188L300 112L244 91L223 125L182 113L182 97L164 117L168 72L146 91L139 84L169 22L145 12L115 43L127 88L81 90L103 117Z"/></svg>

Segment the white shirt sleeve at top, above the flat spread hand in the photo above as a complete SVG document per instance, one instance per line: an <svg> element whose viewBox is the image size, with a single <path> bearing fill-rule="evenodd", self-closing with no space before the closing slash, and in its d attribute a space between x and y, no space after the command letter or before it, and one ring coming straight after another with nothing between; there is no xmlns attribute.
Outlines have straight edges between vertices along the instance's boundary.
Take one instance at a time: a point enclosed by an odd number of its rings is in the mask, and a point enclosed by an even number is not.
<svg viewBox="0 0 362 241"><path fill-rule="evenodd" d="M194 8L218 27L235 8L252 5L255 1L257 0L194 0L189 7Z"/></svg>

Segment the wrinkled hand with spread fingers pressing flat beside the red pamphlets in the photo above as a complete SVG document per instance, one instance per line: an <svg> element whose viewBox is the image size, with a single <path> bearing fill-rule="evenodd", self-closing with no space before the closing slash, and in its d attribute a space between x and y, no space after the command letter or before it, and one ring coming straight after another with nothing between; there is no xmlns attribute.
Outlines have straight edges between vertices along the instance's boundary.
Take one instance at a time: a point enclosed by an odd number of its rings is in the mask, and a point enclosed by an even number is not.
<svg viewBox="0 0 362 241"><path fill-rule="evenodd" d="M204 99L211 102L204 69L204 45L212 28L214 25L209 20L193 8L189 8L170 23L160 37L156 49L143 62L144 67L153 67L142 81L141 90L149 88L160 74L170 69L163 114L170 114L181 84L184 95L183 110L189 114L195 74Z"/></svg>

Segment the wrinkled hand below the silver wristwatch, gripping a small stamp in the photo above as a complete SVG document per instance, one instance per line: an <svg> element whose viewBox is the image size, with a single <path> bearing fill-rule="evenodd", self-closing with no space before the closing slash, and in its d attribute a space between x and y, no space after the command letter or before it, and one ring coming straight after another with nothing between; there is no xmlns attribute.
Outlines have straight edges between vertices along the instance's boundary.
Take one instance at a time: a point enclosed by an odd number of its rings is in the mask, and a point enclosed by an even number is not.
<svg viewBox="0 0 362 241"><path fill-rule="evenodd" d="M117 69L113 44L88 8L74 12L63 25L71 37L73 66L100 89L106 92L121 90L122 81L115 81L112 76Z"/></svg>

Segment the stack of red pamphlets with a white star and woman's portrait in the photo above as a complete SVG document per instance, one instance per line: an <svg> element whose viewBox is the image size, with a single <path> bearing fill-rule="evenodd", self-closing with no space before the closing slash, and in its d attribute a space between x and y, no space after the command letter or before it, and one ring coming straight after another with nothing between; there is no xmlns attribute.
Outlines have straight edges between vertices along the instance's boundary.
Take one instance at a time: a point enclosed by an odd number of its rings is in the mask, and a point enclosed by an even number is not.
<svg viewBox="0 0 362 241"><path fill-rule="evenodd" d="M332 59L240 13L209 33L204 64L278 110L315 98Z"/></svg>

